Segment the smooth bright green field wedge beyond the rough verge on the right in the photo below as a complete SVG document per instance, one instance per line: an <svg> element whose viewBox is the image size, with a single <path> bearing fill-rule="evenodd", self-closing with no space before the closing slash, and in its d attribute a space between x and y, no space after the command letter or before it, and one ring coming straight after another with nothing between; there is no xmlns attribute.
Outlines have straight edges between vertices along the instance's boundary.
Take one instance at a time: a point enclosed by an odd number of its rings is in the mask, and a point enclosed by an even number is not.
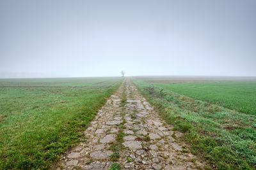
<svg viewBox="0 0 256 170"><path fill-rule="evenodd" d="M220 104L226 108L256 115L256 81L221 83L156 84L184 96Z"/></svg>

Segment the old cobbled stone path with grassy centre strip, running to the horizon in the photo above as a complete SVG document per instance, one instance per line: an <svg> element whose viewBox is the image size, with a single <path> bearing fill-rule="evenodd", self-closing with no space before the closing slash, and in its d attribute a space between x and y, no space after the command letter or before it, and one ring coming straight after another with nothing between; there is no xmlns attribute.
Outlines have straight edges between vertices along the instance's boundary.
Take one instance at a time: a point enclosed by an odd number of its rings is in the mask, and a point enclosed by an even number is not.
<svg viewBox="0 0 256 170"><path fill-rule="evenodd" d="M172 128L126 79L57 169L110 169L115 162L122 169L204 168Z"/></svg>

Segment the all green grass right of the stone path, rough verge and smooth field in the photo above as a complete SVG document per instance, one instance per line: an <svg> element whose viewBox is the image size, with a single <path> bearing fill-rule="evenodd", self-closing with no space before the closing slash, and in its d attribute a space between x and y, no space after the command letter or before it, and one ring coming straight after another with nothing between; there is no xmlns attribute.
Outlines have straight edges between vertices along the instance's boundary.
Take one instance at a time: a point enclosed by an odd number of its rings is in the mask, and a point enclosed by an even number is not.
<svg viewBox="0 0 256 170"><path fill-rule="evenodd" d="M201 155L218 169L255 169L256 83L168 81L133 79L161 116L175 125L177 131L187 133L184 140L192 153Z"/></svg>

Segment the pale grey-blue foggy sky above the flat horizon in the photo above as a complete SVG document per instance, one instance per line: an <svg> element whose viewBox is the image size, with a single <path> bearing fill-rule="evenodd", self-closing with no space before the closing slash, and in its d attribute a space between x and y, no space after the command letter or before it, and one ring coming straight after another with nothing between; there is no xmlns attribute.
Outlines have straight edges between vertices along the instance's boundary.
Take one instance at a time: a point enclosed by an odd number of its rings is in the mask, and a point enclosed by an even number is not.
<svg viewBox="0 0 256 170"><path fill-rule="evenodd" d="M256 76L255 0L0 1L0 76Z"/></svg>

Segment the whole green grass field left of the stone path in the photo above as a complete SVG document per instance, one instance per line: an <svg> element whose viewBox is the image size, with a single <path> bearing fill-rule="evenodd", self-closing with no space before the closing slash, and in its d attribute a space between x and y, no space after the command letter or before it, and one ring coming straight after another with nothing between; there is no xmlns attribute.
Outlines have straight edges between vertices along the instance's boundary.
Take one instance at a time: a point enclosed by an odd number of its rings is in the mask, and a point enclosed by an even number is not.
<svg viewBox="0 0 256 170"><path fill-rule="evenodd" d="M121 78L0 79L0 169L49 169Z"/></svg>

